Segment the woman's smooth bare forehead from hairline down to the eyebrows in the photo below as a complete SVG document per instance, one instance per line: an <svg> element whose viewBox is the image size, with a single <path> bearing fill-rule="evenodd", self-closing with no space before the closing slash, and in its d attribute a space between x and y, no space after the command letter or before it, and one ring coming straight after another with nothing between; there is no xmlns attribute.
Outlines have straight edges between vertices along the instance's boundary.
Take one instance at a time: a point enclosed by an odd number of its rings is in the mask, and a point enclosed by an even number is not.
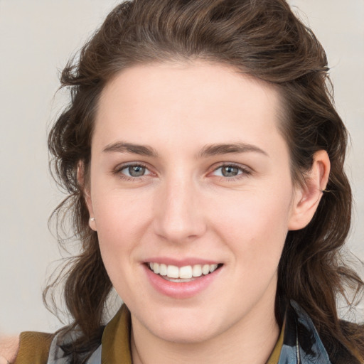
<svg viewBox="0 0 364 364"><path fill-rule="evenodd" d="M225 65L136 65L122 70L103 90L95 136L100 134L104 144L117 135L138 138L128 139L132 142L150 144L152 137L173 143L186 133L190 143L234 138L260 143L279 133L279 104L272 85Z"/></svg>

